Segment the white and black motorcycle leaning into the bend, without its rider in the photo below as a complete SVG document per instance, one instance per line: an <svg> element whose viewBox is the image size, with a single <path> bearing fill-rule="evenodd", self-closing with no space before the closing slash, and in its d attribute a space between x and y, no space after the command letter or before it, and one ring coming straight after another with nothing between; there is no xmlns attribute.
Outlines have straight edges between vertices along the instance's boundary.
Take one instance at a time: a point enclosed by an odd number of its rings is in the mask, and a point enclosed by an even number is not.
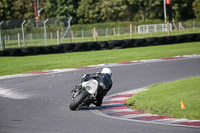
<svg viewBox="0 0 200 133"><path fill-rule="evenodd" d="M71 110L78 110L80 107L88 106L95 100L98 90L98 81L90 79L81 83L80 87L72 90L72 102L69 105Z"/></svg>

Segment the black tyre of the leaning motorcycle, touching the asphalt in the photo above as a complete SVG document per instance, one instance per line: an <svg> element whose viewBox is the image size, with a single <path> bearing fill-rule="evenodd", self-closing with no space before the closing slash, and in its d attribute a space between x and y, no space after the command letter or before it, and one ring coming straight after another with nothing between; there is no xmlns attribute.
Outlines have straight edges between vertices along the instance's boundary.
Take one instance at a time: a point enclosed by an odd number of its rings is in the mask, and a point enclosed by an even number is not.
<svg viewBox="0 0 200 133"><path fill-rule="evenodd" d="M74 101L69 105L71 110L76 110L78 106L83 102L83 100L88 96L86 90L81 91L74 99Z"/></svg>

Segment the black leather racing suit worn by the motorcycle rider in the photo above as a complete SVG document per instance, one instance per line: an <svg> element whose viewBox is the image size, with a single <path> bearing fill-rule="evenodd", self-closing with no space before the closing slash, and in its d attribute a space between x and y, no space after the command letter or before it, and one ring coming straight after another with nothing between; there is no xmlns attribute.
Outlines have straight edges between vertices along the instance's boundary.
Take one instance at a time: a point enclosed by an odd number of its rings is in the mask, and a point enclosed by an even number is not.
<svg viewBox="0 0 200 133"><path fill-rule="evenodd" d="M106 96L107 92L112 87L112 79L109 74L105 73L85 74L82 77L81 83L84 81L88 81L92 78L98 81L96 101L93 101L93 104L95 104L96 106L101 106L104 96Z"/></svg>

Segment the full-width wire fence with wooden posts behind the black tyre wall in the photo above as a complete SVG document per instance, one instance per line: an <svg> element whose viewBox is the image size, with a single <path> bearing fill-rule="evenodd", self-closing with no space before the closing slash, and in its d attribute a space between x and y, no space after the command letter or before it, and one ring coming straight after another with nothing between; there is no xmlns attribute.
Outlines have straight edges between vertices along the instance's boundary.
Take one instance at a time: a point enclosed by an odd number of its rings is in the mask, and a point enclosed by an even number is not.
<svg viewBox="0 0 200 133"><path fill-rule="evenodd" d="M124 27L100 27L98 29L94 27L93 29L71 30L70 32L68 22L69 18L49 18L37 22L35 19L0 22L1 50L14 47L55 45L70 41L90 42L200 33L200 21L170 24L170 32L166 31L166 25L164 30L158 30L162 25L145 25L141 30L142 26L131 24Z"/></svg>

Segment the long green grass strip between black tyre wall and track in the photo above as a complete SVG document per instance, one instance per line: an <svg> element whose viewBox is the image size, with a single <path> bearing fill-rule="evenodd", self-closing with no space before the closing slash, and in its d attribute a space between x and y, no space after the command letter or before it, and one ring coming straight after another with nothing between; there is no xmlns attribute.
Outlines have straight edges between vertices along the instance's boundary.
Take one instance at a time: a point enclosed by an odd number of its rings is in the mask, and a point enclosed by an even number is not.
<svg viewBox="0 0 200 133"><path fill-rule="evenodd" d="M200 54L200 42L25 57L0 57L0 75L191 54Z"/></svg>

